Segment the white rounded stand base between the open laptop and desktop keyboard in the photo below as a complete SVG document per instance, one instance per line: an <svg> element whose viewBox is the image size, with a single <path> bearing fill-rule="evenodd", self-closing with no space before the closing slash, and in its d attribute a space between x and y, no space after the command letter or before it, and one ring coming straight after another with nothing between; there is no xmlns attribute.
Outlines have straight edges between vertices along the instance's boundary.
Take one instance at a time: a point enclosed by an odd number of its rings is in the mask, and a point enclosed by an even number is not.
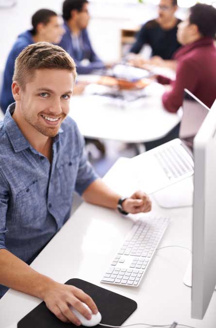
<svg viewBox="0 0 216 328"><path fill-rule="evenodd" d="M160 207L176 208L193 205L193 176L159 190L153 194Z"/></svg>

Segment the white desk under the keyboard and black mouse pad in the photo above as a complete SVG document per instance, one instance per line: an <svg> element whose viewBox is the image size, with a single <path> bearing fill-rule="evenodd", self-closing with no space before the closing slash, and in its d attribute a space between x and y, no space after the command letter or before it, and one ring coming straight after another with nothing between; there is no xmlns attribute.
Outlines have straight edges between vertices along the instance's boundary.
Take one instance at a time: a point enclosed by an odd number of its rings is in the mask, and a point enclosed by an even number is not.
<svg viewBox="0 0 216 328"><path fill-rule="evenodd" d="M127 162L119 161L107 173L105 181L118 190L117 179L123 181L126 167ZM153 213L171 218L160 246L191 247L190 207L167 210L153 201ZM216 294L204 320L190 318L191 289L183 284L191 256L187 250L166 248L158 251L138 288L100 283L132 221L132 217L121 217L113 210L84 203L33 261L32 267L62 283L77 277L134 299L138 308L127 324L171 324L177 321L196 328L215 328ZM17 327L16 323L39 303L35 297L8 291L0 300L0 328Z"/></svg>

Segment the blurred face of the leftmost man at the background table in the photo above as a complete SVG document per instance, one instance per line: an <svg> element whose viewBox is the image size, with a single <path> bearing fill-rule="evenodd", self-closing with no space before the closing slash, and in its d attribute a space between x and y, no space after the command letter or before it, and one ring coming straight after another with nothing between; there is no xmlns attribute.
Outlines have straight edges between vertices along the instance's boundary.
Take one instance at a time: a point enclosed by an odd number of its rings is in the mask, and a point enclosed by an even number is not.
<svg viewBox="0 0 216 328"><path fill-rule="evenodd" d="M59 43L64 35L63 18L59 16L50 17L47 24L42 24L38 27L39 33L45 41L50 43Z"/></svg>

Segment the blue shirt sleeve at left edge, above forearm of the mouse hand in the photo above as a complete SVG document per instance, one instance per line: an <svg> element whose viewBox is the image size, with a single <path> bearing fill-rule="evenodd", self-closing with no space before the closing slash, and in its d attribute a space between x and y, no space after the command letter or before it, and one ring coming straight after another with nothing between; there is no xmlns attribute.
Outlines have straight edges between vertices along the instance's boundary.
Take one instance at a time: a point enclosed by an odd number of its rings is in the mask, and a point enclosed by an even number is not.
<svg viewBox="0 0 216 328"><path fill-rule="evenodd" d="M0 249L7 249L4 242L4 236L8 232L6 227L6 213L8 207L8 184L0 172Z"/></svg>

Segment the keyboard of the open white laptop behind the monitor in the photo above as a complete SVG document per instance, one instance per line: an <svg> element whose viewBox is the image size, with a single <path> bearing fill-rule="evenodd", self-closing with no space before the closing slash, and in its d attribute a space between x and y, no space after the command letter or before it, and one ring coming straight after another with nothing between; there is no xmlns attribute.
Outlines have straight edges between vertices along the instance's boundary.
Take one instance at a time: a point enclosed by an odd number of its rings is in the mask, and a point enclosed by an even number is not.
<svg viewBox="0 0 216 328"><path fill-rule="evenodd" d="M182 146L180 145L179 147ZM154 154L170 180L194 171L193 165L183 155L179 147L176 145L169 146Z"/></svg>

